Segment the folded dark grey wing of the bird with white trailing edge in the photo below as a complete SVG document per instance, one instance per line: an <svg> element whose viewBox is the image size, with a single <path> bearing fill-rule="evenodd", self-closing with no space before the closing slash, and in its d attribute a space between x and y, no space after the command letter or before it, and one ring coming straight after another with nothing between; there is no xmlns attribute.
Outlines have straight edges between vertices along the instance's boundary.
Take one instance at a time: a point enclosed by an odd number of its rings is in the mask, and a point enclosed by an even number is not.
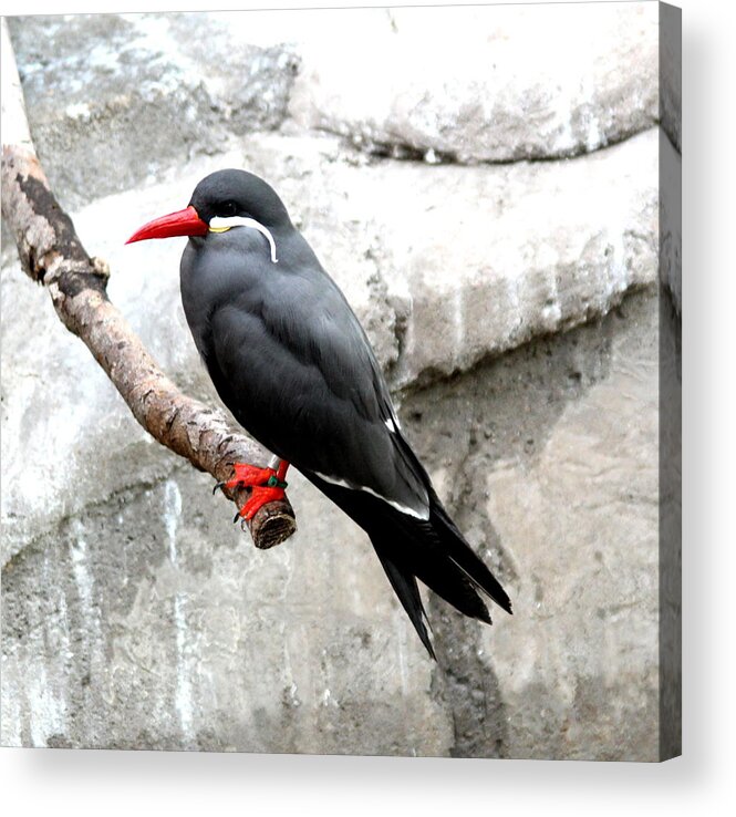
<svg viewBox="0 0 736 817"><path fill-rule="evenodd" d="M280 297L243 291L216 308L210 375L237 420L274 454L427 518L428 479L401 435L371 345L322 275L292 278Z"/></svg>

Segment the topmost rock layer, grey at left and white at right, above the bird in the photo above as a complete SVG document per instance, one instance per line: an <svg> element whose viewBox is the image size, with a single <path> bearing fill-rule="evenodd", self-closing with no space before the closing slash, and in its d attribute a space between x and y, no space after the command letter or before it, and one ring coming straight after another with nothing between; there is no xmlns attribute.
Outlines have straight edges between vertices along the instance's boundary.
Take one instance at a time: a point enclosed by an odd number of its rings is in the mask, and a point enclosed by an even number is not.
<svg viewBox="0 0 736 817"><path fill-rule="evenodd" d="M11 32L39 153L76 207L288 113L431 162L594 151L657 121L656 9L95 14Z"/></svg>

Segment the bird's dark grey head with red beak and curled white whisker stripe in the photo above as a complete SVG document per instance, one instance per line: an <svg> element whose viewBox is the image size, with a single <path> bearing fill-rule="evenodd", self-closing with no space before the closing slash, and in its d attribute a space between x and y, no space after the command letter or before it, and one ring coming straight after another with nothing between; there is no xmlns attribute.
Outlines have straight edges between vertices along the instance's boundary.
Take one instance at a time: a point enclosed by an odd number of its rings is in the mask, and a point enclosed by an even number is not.
<svg viewBox="0 0 736 817"><path fill-rule="evenodd" d="M246 170L217 170L206 176L191 194L188 207L155 218L134 232L126 244L148 238L208 236L235 227L262 232L276 261L272 230L291 226L289 214L272 187Z"/></svg>

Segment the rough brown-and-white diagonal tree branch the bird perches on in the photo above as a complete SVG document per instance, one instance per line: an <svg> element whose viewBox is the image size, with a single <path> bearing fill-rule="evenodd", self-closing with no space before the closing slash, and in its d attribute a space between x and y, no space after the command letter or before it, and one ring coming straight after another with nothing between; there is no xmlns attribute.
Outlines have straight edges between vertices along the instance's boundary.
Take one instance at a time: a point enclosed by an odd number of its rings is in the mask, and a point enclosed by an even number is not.
<svg viewBox="0 0 736 817"><path fill-rule="evenodd" d="M84 341L138 423L218 482L232 476L232 463L266 465L268 452L235 431L224 412L177 389L107 298L107 265L85 251L35 155L4 19L2 126L2 217L21 266L49 290L62 323ZM240 507L249 489L225 493ZM297 529L288 499L263 505L247 526L258 548L278 545Z"/></svg>

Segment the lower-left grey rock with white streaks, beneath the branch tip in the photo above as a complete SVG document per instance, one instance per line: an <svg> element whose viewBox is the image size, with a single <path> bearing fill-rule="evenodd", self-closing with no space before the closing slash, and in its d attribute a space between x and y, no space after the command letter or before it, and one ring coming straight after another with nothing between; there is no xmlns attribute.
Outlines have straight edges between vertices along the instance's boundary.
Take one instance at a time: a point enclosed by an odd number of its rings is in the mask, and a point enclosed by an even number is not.
<svg viewBox="0 0 736 817"><path fill-rule="evenodd" d="M450 715L367 540L292 485L302 532L270 552L177 467L15 557L3 745L446 754Z"/></svg>

